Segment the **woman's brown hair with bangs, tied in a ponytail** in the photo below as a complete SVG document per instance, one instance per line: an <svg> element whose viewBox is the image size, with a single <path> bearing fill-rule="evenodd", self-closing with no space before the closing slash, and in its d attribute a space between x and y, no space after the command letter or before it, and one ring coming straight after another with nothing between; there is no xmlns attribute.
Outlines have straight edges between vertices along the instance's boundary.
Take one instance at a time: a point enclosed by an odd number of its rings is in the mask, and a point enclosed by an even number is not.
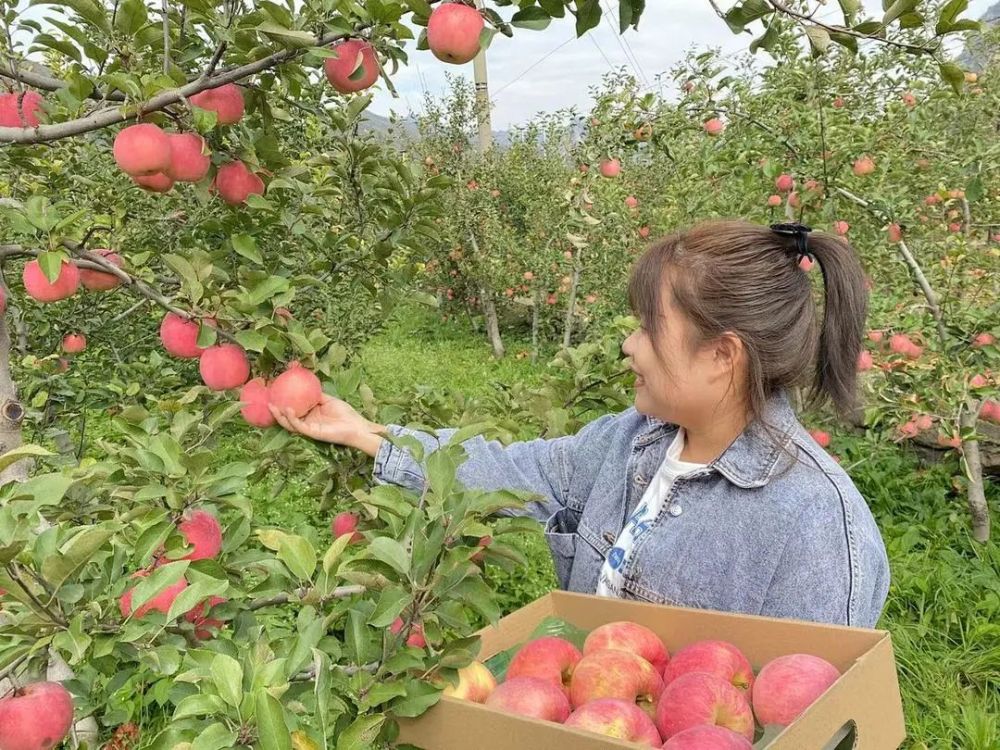
<svg viewBox="0 0 1000 750"><path fill-rule="evenodd" d="M809 252L825 289L820 325L810 274L798 264L795 238L745 221L708 221L658 240L636 262L629 303L656 350L661 300L669 284L674 307L691 322L691 349L726 332L746 349L747 409L760 418L777 391L809 385L808 401L832 402L846 415L856 403L868 292L854 249L823 232ZM669 272L669 278L668 278ZM662 360L662 357L661 357Z"/></svg>

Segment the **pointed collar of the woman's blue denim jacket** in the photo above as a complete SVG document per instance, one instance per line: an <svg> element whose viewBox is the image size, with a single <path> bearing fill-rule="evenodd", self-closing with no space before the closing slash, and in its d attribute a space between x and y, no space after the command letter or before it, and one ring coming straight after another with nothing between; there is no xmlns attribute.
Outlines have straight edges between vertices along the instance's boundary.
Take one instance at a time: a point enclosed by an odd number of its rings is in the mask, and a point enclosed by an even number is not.
<svg viewBox="0 0 1000 750"><path fill-rule="evenodd" d="M646 446L677 433L675 424L648 415L646 421L648 428L637 438L637 446ZM722 455L709 464L709 468L718 470L738 487L750 489L764 486L779 468L794 460L787 446L796 422L788 395L784 391L776 393L765 404L762 419L747 425ZM770 427L770 434L766 426Z"/></svg>

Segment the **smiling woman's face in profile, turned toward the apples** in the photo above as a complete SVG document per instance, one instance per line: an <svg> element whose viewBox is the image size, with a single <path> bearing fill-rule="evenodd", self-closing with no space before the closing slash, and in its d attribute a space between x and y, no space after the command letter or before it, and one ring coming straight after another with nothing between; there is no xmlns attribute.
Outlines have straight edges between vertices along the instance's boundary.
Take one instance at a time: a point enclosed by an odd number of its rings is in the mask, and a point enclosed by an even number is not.
<svg viewBox="0 0 1000 750"><path fill-rule="evenodd" d="M635 408L665 422L690 428L701 425L719 408L730 389L732 379L731 349L721 342L707 342L692 350L692 326L675 309L666 285L661 298L660 330L657 342L660 356L653 349L650 321L622 344L636 373Z"/></svg>

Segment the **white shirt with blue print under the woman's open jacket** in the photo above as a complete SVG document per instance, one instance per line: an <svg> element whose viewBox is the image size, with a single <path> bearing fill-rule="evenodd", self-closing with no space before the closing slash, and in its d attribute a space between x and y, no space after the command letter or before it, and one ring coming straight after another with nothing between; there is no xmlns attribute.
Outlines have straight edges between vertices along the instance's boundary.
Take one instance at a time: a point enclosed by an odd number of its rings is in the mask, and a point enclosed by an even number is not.
<svg viewBox="0 0 1000 750"><path fill-rule="evenodd" d="M636 506L632 515L625 522L625 528L608 552L601 575L597 580L598 596L620 597L625 579L621 571L625 569L636 542L649 533L653 521L659 516L666 502L670 489L677 477L705 468L705 464L695 464L681 461L681 451L684 450L684 429L677 430L674 441L667 448L667 455L642 494L642 500Z"/></svg>

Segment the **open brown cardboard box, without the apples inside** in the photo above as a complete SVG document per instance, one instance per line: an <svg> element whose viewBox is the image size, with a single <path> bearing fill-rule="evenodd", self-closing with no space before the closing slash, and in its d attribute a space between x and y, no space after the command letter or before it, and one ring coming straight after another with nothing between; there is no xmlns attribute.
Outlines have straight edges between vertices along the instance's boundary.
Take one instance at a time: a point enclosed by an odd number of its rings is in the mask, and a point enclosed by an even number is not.
<svg viewBox="0 0 1000 750"><path fill-rule="evenodd" d="M480 660L530 639L546 617L585 630L631 620L655 631L670 653L694 641L720 639L741 648L757 671L776 656L810 653L841 677L778 736L755 750L888 750L906 736L889 633L797 620L778 620L556 591L479 632ZM608 750L640 747L552 722L442 698L416 719L400 719L399 743L425 750Z"/></svg>

